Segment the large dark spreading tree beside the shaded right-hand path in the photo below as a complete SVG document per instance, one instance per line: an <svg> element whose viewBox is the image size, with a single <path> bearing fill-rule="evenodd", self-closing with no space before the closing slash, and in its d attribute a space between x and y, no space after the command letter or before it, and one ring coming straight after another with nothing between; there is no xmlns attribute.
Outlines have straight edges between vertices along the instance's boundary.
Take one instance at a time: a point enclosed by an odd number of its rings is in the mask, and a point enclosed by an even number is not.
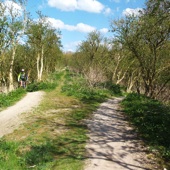
<svg viewBox="0 0 170 170"><path fill-rule="evenodd" d="M144 12L140 16L126 16L111 24L116 40L129 50L138 62L138 73L143 81L141 85L144 86L144 93L151 97L155 97L157 78L163 68L170 66L168 57L162 55L169 44L168 18L165 13L147 15L147 12ZM167 79L166 82L168 81Z"/></svg>

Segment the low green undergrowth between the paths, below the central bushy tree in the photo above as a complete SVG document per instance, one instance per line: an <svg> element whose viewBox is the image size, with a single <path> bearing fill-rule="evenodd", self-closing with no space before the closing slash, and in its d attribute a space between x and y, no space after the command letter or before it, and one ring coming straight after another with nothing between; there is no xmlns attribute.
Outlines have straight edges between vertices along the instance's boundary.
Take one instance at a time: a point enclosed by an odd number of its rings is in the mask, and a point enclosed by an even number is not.
<svg viewBox="0 0 170 170"><path fill-rule="evenodd" d="M65 75L65 82L62 87L62 92L68 96L75 96L81 101L87 103L91 103L93 101L101 103L112 95L121 95L121 89L119 86L112 84L106 87L107 88L104 88L101 85L89 87L86 80L82 76L75 76L74 74L68 72Z"/></svg>

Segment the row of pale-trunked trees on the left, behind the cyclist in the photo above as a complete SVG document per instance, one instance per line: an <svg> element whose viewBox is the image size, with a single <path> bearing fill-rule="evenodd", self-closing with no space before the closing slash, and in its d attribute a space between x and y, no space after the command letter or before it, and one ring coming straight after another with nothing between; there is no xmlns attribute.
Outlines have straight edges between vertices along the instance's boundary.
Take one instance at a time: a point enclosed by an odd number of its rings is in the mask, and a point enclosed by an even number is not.
<svg viewBox="0 0 170 170"><path fill-rule="evenodd" d="M24 68L29 81L41 81L56 70L62 57L61 32L37 12L35 21L26 11L26 1L0 2L0 91L17 87Z"/></svg>

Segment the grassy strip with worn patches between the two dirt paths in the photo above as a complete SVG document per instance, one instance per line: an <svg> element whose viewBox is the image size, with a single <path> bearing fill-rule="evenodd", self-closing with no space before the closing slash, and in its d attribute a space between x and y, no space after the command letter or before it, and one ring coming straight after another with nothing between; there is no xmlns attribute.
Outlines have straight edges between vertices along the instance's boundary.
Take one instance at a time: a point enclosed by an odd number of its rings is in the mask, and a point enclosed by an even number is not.
<svg viewBox="0 0 170 170"><path fill-rule="evenodd" d="M27 123L1 139L0 169L83 169L87 140L83 120L110 91L88 88L70 73L57 81L59 86L46 91L41 105L25 114Z"/></svg>

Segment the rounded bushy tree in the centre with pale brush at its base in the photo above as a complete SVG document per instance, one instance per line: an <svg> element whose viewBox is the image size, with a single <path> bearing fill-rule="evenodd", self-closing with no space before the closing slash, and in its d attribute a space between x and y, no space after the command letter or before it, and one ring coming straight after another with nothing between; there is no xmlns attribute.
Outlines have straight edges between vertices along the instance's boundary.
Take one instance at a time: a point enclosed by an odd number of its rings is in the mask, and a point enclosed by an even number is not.
<svg viewBox="0 0 170 170"><path fill-rule="evenodd" d="M88 83L95 86L99 82L106 81L105 65L108 56L106 39L98 31L88 34L87 40L83 41L74 55L77 57L77 66L85 75Z"/></svg>

